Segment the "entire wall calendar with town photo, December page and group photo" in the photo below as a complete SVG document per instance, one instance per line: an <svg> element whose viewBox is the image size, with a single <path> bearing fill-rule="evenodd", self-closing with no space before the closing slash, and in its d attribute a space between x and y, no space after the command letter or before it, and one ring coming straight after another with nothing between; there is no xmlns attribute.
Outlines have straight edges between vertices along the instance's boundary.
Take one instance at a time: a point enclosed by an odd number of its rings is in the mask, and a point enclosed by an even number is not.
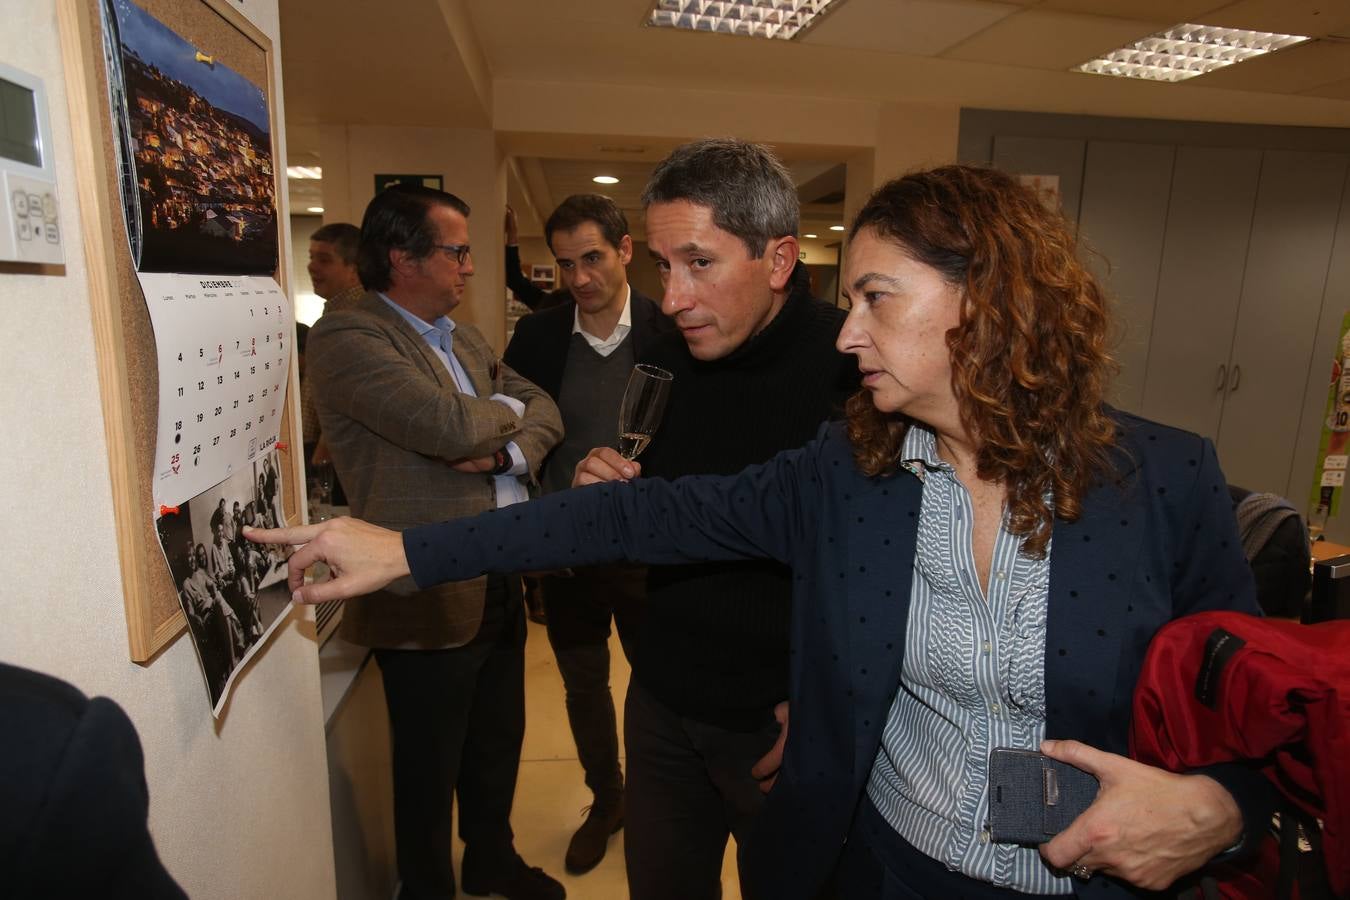
<svg viewBox="0 0 1350 900"><path fill-rule="evenodd" d="M277 451L294 337L277 283L267 96L131 0L103 5L127 236L155 337L151 495L220 715L289 609L286 563L243 538L285 522Z"/></svg>

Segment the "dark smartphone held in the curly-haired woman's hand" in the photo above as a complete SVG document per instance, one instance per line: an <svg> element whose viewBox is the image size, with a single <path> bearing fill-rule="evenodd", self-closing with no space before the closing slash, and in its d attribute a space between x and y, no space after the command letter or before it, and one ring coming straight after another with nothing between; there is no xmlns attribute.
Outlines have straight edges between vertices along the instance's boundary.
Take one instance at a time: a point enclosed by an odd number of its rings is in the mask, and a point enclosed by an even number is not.
<svg viewBox="0 0 1350 900"><path fill-rule="evenodd" d="M1087 810L1100 785L1068 762L1035 750L995 748L990 753L990 839L1045 843Z"/></svg>

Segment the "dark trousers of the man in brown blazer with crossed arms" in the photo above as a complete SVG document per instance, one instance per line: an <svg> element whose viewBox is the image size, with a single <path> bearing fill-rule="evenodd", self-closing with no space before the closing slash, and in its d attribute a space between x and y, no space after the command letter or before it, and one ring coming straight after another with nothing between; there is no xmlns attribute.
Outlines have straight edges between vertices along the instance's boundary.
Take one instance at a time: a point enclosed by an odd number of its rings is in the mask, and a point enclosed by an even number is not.
<svg viewBox="0 0 1350 900"><path fill-rule="evenodd" d="M525 617L520 579L489 578L483 626L450 650L375 650L394 756L394 838L404 897L448 900L451 806L464 866L514 860L510 806L525 735Z"/></svg>

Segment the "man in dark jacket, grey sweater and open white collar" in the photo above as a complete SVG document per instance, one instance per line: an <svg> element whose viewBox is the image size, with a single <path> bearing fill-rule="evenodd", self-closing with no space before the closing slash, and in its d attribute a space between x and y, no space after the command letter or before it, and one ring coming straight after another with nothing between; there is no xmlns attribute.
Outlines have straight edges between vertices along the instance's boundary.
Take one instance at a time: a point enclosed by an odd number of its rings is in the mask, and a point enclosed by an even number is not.
<svg viewBox="0 0 1350 900"><path fill-rule="evenodd" d="M509 221L509 219L508 219ZM544 493L571 486L576 463L618 437L618 406L634 363L672 327L656 304L632 290L633 256L624 212L609 197L574 194L544 224L544 237L563 274L559 306L525 316L504 362L558 403L567 434L544 460ZM609 835L624 826L624 776L609 691L609 629L613 618L626 646L640 619L644 569L608 565L541 579L548 642L567 696L567 721L586 787L595 795L567 846L567 870L589 872L605 858Z"/></svg>

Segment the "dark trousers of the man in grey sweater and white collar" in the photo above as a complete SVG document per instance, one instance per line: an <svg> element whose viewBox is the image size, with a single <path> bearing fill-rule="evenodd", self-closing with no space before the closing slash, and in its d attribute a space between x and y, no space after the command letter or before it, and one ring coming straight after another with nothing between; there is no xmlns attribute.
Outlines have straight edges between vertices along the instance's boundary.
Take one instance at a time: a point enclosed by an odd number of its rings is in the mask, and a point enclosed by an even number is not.
<svg viewBox="0 0 1350 900"><path fill-rule="evenodd" d="M586 787L602 808L617 804L624 791L618 766L618 726L609 690L609 627L618 626L624 652L640 627L647 595L647 569L595 567L571 578L541 579L548 642L558 658L567 702L567 722Z"/></svg>

